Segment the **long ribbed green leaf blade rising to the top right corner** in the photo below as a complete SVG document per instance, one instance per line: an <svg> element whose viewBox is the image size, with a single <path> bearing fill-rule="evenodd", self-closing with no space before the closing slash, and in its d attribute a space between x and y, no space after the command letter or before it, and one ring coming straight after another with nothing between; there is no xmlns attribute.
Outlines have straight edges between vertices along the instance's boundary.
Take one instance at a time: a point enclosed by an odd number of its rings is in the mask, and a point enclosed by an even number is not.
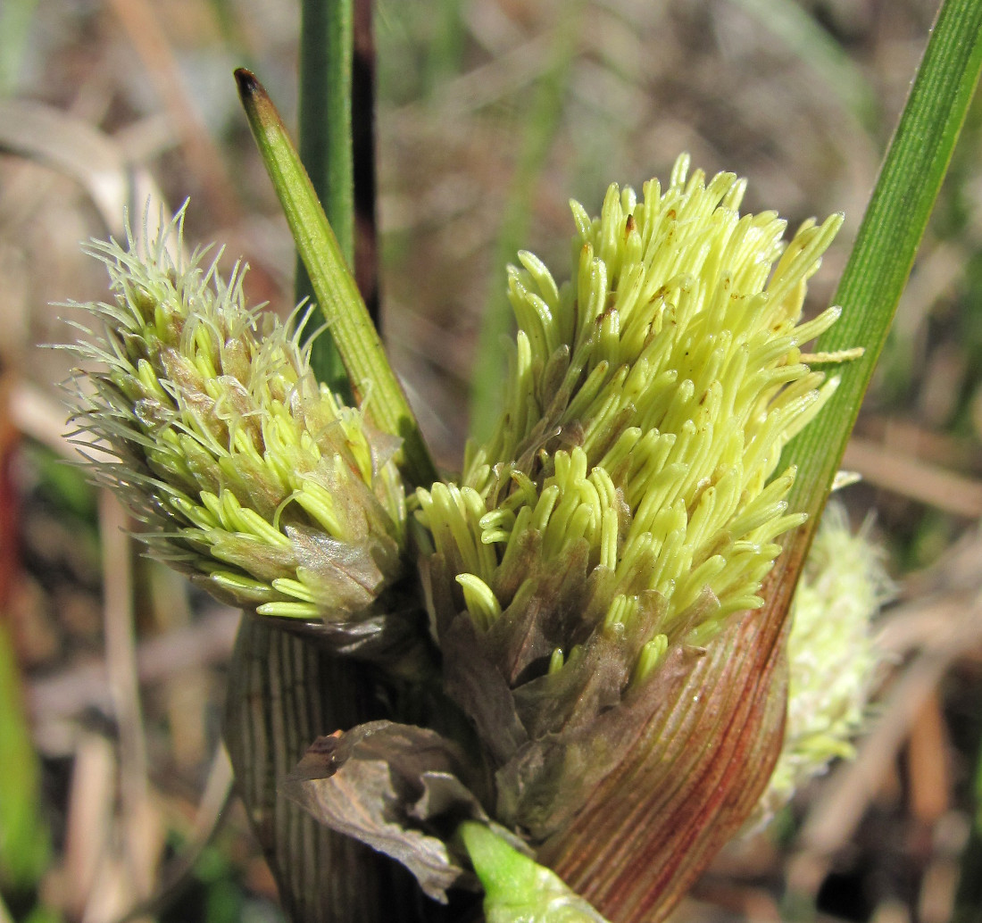
<svg viewBox="0 0 982 923"><path fill-rule="evenodd" d="M834 302L843 316L820 352L863 347L829 405L791 441L784 461L798 466L791 509L813 514L793 538L803 551L842 461L873 367L886 342L955 140L982 68L982 3L945 0L931 32L897 132L881 168ZM783 556L779 567L787 567Z"/></svg>

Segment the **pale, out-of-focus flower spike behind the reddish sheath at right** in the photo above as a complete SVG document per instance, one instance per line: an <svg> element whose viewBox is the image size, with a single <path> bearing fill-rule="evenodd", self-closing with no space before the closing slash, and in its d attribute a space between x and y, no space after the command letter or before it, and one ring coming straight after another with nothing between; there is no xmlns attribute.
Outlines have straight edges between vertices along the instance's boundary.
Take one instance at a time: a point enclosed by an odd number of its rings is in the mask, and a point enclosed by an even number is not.
<svg viewBox="0 0 982 923"><path fill-rule="evenodd" d="M892 591L882 549L868 533L866 526L853 532L838 505L822 516L791 603L785 742L749 828L832 760L853 755L851 738L863 728L884 659L871 623Z"/></svg>

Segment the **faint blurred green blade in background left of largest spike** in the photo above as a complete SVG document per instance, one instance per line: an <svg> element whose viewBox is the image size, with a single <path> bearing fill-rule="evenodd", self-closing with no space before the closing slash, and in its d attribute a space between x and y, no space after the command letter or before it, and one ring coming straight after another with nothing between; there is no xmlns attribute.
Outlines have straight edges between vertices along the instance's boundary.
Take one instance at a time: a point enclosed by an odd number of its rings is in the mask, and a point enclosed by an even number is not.
<svg viewBox="0 0 982 923"><path fill-rule="evenodd" d="M495 245L491 288L470 379L470 435L478 442L491 436L501 412L508 337L515 326L502 269L515 260L527 238L535 188L563 116L563 98L578 44L583 6L584 0L569 5L556 32L552 61L539 78L525 113L521 149Z"/></svg>

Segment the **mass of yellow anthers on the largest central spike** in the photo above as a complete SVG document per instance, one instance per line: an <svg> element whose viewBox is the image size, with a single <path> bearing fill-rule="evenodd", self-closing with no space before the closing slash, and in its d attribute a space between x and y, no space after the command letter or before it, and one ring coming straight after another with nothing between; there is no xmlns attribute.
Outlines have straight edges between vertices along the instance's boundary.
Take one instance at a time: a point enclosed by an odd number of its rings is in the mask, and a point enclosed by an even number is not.
<svg viewBox="0 0 982 923"><path fill-rule="evenodd" d="M668 188L652 180L641 199L611 186L597 219L573 202L566 285L519 254L496 433L468 447L460 486L417 492L458 603L485 630L578 546L595 590L586 623L629 628L655 594L635 679L670 644L701 645L762 605L775 539L803 518L787 509L782 448L836 385L800 348L840 310L802 322L801 308L842 216L786 242L775 213L739 214L743 181L707 184L688 166L682 156Z"/></svg>

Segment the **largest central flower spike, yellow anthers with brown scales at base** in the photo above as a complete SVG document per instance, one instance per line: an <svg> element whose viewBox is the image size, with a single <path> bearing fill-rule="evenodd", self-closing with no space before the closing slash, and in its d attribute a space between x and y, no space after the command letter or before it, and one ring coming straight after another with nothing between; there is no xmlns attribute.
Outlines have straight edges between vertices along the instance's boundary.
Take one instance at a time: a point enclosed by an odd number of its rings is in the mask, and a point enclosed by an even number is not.
<svg viewBox="0 0 982 923"><path fill-rule="evenodd" d="M574 754L600 716L612 727L667 651L762 605L775 538L803 518L781 450L835 384L800 347L839 310L801 308L841 216L786 244L774 213L739 215L735 176L687 170L642 199L612 186L599 219L573 203L562 289L519 255L497 432L460 485L417 491L448 688L491 755L499 818L533 841L590 784Z"/></svg>

